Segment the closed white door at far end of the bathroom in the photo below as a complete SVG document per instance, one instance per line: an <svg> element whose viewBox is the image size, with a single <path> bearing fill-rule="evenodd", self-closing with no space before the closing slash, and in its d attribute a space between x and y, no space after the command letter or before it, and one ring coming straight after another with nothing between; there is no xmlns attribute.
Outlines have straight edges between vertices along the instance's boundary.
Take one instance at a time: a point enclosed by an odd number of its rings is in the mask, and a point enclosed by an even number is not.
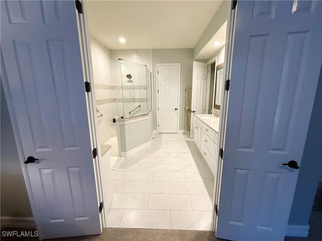
<svg viewBox="0 0 322 241"><path fill-rule="evenodd" d="M158 132L178 133L179 66L159 65L158 72Z"/></svg>

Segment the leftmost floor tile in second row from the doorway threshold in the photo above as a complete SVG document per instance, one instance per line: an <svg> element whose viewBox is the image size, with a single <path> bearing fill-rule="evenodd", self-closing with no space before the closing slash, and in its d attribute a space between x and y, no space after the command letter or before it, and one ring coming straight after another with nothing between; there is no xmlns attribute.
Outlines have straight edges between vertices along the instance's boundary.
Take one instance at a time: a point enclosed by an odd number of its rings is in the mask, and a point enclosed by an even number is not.
<svg viewBox="0 0 322 241"><path fill-rule="evenodd" d="M114 193L111 208L147 209L149 194Z"/></svg>

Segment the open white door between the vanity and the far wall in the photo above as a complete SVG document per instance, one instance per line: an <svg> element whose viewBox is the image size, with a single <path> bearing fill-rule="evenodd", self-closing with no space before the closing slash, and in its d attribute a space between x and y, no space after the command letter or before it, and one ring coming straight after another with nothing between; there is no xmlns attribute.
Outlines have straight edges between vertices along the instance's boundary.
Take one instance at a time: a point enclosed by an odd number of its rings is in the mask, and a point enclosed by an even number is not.
<svg viewBox="0 0 322 241"><path fill-rule="evenodd" d="M206 113L207 64L193 61L190 138L194 137L194 115Z"/></svg>

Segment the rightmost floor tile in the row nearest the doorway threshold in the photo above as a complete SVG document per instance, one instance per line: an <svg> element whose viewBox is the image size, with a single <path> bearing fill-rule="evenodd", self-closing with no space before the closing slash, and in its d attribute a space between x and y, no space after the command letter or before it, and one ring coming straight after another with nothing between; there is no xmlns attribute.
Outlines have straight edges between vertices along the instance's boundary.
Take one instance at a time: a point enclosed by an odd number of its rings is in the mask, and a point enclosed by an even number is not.
<svg viewBox="0 0 322 241"><path fill-rule="evenodd" d="M176 210L170 212L171 229L211 230L211 212Z"/></svg>

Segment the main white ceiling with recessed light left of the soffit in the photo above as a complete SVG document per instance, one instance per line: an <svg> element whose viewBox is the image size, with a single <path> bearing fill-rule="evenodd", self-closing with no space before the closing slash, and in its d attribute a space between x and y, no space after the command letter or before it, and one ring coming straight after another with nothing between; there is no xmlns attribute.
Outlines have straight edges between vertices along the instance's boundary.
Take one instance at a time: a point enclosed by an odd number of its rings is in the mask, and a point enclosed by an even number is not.
<svg viewBox="0 0 322 241"><path fill-rule="evenodd" d="M194 48L221 3L87 1L86 5L90 34L109 49L164 49ZM120 37L125 44L119 43Z"/></svg>

